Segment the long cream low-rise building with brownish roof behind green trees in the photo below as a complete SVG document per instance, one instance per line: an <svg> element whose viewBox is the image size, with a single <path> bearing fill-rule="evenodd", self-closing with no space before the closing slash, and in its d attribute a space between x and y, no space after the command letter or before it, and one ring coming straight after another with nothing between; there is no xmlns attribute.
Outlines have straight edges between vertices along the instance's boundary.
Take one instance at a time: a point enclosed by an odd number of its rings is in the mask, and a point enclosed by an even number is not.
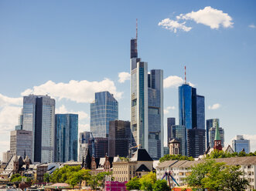
<svg viewBox="0 0 256 191"><path fill-rule="evenodd" d="M241 170L244 172L244 177L249 181L247 191L251 191L256 188L256 156L244 156L233 158L215 159L217 163L226 163L227 165L241 166ZM203 163L202 160L186 161L186 160L169 160L159 164L156 167L156 178L162 179L165 173L171 173L173 178L180 186L184 186L184 178L189 175L189 168L195 166L198 163ZM171 186L176 186L176 183L171 182Z"/></svg>

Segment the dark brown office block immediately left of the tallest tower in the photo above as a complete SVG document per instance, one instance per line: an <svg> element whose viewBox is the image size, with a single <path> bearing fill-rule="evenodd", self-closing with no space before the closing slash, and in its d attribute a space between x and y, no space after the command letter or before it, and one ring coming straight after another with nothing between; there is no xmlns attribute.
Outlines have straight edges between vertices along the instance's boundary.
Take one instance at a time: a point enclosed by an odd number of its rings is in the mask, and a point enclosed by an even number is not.
<svg viewBox="0 0 256 191"><path fill-rule="evenodd" d="M109 122L109 156L129 155L129 143L131 142L131 122L115 120Z"/></svg>

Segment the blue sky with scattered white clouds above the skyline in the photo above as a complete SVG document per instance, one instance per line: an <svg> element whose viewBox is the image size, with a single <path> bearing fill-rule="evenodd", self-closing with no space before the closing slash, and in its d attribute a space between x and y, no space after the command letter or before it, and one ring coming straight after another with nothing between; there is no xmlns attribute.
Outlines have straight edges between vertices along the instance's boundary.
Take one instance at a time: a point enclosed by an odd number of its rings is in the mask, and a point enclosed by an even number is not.
<svg viewBox="0 0 256 191"><path fill-rule="evenodd" d="M243 134L254 151L255 1L2 0L0 152L31 92L53 96L57 112L78 112L83 131L94 92L109 89L120 119L129 120L130 83L118 82L118 73L129 72L136 18L138 56L148 69L164 70L165 124L170 116L178 122L176 87L186 65L187 80L206 98L206 119L220 119L227 144Z"/></svg>

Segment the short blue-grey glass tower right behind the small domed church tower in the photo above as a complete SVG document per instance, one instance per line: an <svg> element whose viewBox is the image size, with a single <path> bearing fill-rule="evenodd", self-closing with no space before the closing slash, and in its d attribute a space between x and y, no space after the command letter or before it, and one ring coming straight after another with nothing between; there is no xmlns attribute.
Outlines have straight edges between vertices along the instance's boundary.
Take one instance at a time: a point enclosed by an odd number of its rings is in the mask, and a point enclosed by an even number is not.
<svg viewBox="0 0 256 191"><path fill-rule="evenodd" d="M187 132L185 126L174 125L171 127L172 139L179 141L179 154L187 156Z"/></svg>

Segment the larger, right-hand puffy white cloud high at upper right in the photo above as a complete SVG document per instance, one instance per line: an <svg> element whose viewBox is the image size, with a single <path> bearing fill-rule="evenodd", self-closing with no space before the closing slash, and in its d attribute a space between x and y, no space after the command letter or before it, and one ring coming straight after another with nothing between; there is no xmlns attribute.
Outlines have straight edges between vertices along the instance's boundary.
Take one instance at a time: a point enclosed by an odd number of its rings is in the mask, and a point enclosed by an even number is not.
<svg viewBox="0 0 256 191"><path fill-rule="evenodd" d="M200 9L197 12L189 12L180 14L176 17L178 20L193 20L196 23L210 26L210 28L217 29L222 25L224 28L233 27L234 22L227 13L221 10L211 8L210 6Z"/></svg>

